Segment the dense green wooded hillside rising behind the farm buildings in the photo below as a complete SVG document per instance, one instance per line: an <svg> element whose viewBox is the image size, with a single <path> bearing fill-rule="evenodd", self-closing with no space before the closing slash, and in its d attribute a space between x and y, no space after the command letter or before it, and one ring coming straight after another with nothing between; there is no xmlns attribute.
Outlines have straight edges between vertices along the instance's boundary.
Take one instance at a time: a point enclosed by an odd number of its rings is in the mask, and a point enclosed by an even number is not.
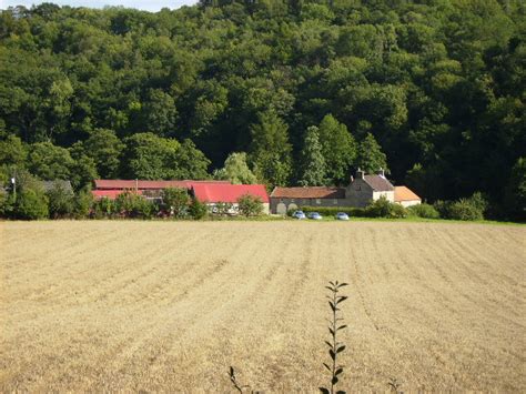
<svg viewBox="0 0 526 394"><path fill-rule="evenodd" d="M383 166L429 202L482 192L492 215L524 219L525 73L522 0L10 8L1 181L23 170L78 190L97 176L272 188Z"/></svg>

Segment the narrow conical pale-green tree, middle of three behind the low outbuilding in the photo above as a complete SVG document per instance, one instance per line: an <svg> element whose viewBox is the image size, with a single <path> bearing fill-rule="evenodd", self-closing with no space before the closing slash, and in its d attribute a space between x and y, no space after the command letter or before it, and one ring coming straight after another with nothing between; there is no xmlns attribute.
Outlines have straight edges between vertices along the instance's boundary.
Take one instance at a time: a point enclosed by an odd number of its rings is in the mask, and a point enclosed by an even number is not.
<svg viewBox="0 0 526 394"><path fill-rule="evenodd" d="M322 153L318 129L312 125L307 129L301 152L301 174L297 182L302 186L321 186L326 182L327 168Z"/></svg>

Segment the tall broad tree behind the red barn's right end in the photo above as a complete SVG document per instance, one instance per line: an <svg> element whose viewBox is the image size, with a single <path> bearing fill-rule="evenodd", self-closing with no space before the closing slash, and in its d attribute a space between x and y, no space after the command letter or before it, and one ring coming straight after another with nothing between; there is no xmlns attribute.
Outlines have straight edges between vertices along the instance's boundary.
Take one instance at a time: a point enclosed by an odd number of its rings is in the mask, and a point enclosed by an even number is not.
<svg viewBox="0 0 526 394"><path fill-rule="evenodd" d="M269 186L285 185L292 172L287 125L274 112L265 112L251 131L251 161L256 176Z"/></svg>

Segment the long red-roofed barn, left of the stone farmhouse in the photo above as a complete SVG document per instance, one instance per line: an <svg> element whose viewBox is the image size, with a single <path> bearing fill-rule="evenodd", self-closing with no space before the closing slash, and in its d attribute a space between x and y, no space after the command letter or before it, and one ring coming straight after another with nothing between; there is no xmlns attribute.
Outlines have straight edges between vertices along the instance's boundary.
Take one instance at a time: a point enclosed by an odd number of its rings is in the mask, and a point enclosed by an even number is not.
<svg viewBox="0 0 526 394"><path fill-rule="evenodd" d="M244 194L257 196L263 202L263 212L269 213L270 200L263 184L231 184L229 181L144 181L144 180L95 180L92 191L95 199L117 199L121 193L131 191L149 200L160 199L166 188L186 189L198 201L211 209L218 203L232 204L237 212L237 199Z"/></svg>

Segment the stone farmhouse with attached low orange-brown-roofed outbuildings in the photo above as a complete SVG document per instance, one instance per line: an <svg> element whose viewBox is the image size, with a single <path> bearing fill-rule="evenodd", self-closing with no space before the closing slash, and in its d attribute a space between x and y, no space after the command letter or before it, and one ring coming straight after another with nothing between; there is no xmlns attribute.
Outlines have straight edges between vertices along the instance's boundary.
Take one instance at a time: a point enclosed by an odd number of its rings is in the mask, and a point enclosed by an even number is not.
<svg viewBox="0 0 526 394"><path fill-rule="evenodd" d="M419 204L419 198L408 188L399 190L396 200L396 188L387 180L384 170L375 174L356 172L356 178L351 176L346 188L275 188L271 193L271 212L285 214L299 206L356 206L364 208L371 201L385 196L391 202L404 206Z"/></svg>

